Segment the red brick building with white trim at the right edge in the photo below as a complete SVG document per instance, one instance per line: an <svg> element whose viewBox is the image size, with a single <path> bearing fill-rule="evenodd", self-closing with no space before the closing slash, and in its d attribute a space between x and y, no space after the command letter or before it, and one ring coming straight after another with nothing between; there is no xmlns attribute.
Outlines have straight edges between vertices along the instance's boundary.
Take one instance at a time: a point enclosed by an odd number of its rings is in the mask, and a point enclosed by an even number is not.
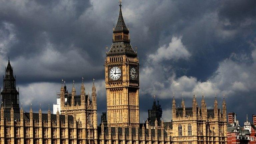
<svg viewBox="0 0 256 144"><path fill-rule="evenodd" d="M241 127L235 113L228 113L227 144L256 144L256 115L251 124L246 118Z"/></svg>

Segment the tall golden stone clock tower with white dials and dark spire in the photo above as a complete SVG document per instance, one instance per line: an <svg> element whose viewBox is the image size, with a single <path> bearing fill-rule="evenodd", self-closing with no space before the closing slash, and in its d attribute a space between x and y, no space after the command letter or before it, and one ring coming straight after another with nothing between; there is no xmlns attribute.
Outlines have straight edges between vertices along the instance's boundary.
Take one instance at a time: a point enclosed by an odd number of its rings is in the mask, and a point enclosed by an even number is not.
<svg viewBox="0 0 256 144"><path fill-rule="evenodd" d="M121 10L106 53L105 83L109 126L139 126L139 60Z"/></svg>

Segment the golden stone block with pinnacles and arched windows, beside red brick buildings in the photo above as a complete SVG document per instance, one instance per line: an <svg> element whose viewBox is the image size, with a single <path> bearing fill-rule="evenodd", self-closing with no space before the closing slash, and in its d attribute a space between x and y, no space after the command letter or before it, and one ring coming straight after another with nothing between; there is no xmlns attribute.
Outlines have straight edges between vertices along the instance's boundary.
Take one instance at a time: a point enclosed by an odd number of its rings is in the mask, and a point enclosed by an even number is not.
<svg viewBox="0 0 256 144"><path fill-rule="evenodd" d="M207 109L204 96L201 107L194 95L192 107L185 107L182 99L181 108L172 102L172 142L173 144L226 144L227 118L226 102L223 99L222 112L215 98L214 109Z"/></svg>

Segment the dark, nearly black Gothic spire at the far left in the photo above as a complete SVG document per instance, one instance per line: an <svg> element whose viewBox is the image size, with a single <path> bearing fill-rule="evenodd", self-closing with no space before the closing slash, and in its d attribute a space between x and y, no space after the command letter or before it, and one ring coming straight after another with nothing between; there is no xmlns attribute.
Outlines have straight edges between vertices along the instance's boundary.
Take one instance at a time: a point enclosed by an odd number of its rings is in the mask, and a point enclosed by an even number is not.
<svg viewBox="0 0 256 144"><path fill-rule="evenodd" d="M16 76L15 76L16 77ZM5 106L4 111L10 111L13 106L14 112L19 112L19 92L16 89L16 80L13 76L13 68L8 60L3 79L3 90L1 91L1 103Z"/></svg>

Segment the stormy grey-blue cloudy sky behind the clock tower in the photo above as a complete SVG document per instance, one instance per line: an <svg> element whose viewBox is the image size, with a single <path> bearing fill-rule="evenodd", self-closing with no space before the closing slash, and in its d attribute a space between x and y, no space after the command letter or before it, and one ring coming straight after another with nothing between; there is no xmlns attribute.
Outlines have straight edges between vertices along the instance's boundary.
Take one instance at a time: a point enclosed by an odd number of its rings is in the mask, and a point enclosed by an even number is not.
<svg viewBox="0 0 256 144"><path fill-rule="evenodd" d="M198 95L201 91L208 92L209 106L213 104L213 93L222 95L225 90L230 93L227 103L241 95L253 101L255 91L245 81L249 78L229 79L238 77L239 72L251 72L249 77L256 80L250 69L255 63L252 55L256 36L255 7L254 0L123 0L124 20L129 24L132 46L138 46L141 65L141 121L150 108L148 97L154 94L159 95L166 115L173 92L177 93L178 100L181 93L188 97L193 90L198 91ZM32 91L32 94L21 92L24 100L33 97L31 102L36 103L40 97L36 88L41 87L40 95L48 95L44 105L55 102L62 78L70 83L73 79L80 82L84 77L91 83L94 77L100 85L98 89L103 89L97 94L99 103L104 104L98 105L98 111L105 111L105 46L111 45L112 26L118 11L117 0L0 0L0 72L4 73L10 56L18 85L22 91ZM237 58L240 62L237 63L234 55L244 58ZM221 79L229 76L221 71L223 65L241 66L229 78ZM158 75L143 77L151 71ZM222 85L223 80L228 81L227 86ZM255 109L254 105L245 110L237 109L245 104L246 101L237 102L238 106L230 103L228 109L236 110L241 116ZM44 106L44 110L47 107Z"/></svg>

